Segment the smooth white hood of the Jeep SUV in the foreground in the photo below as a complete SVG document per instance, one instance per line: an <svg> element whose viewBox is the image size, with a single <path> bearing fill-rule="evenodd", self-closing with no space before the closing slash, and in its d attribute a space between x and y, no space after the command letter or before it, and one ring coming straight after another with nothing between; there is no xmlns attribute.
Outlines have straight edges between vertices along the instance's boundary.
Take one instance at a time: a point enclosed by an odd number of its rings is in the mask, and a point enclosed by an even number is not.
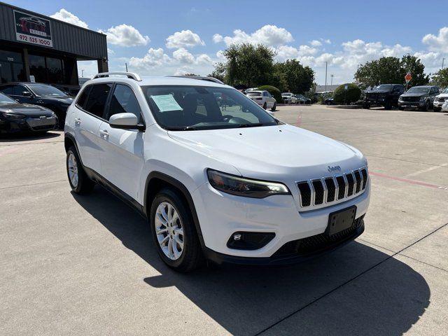
<svg viewBox="0 0 448 336"><path fill-rule="evenodd" d="M209 158L232 165L243 176L260 179L275 181L281 179L279 176L302 174L329 176L329 166L347 171L365 165L363 155L356 149L290 125L168 134Z"/></svg>

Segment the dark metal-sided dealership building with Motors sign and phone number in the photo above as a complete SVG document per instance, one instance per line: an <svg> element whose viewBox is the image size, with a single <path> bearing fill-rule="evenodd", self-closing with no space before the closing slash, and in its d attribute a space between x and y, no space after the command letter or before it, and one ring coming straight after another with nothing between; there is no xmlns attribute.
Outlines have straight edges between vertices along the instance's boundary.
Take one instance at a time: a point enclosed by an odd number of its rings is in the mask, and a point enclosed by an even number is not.
<svg viewBox="0 0 448 336"><path fill-rule="evenodd" d="M0 83L78 85L87 60L108 71L105 34L0 2Z"/></svg>

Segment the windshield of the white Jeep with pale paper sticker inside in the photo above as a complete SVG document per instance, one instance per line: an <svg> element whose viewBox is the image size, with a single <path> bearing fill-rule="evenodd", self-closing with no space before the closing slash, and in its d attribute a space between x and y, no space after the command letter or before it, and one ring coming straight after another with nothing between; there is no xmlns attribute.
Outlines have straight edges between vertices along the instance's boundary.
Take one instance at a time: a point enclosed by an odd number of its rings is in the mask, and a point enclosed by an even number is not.
<svg viewBox="0 0 448 336"><path fill-rule="evenodd" d="M278 125L237 90L204 86L141 87L157 123L167 130L216 130Z"/></svg>

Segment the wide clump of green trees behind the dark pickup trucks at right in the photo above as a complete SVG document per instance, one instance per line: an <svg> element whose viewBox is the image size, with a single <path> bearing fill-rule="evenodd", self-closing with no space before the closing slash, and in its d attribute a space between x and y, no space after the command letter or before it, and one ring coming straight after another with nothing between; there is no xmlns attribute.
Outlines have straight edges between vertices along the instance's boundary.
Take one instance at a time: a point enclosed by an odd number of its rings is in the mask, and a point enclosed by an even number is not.
<svg viewBox="0 0 448 336"><path fill-rule="evenodd" d="M398 57L381 57L366 62L358 68L355 79L361 87L375 86L379 84L405 83L405 75L410 71L412 80L409 86L425 85L429 82L429 76L424 73L425 66L415 56L405 55Z"/></svg>

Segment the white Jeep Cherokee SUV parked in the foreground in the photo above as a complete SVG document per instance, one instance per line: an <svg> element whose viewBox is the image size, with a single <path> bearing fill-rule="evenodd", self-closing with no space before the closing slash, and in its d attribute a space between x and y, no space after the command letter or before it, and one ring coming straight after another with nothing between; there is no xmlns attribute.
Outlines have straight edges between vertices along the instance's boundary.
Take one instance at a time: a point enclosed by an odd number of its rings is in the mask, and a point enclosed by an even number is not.
<svg viewBox="0 0 448 336"><path fill-rule="evenodd" d="M67 111L65 148L73 192L99 184L137 209L182 272L297 262L364 230L364 156L220 83L99 73Z"/></svg>

